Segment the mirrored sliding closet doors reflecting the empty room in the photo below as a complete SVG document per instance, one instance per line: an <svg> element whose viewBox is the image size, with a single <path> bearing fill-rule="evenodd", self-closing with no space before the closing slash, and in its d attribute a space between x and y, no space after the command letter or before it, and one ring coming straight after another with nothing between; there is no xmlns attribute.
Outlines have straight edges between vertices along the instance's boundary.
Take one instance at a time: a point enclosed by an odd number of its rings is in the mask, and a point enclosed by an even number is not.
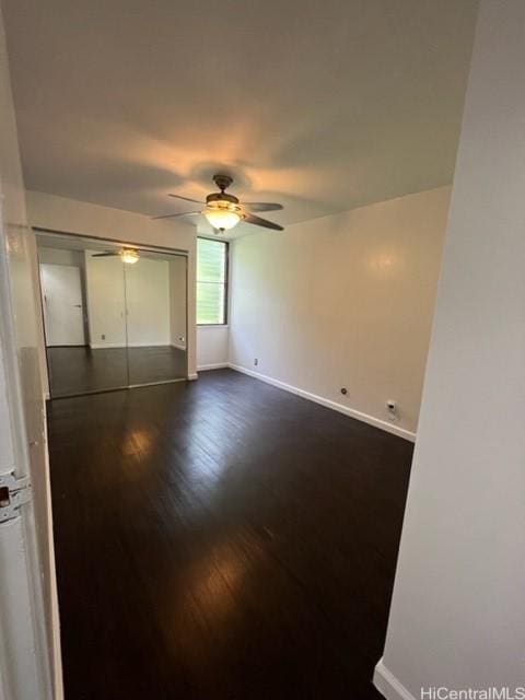
<svg viewBox="0 0 525 700"><path fill-rule="evenodd" d="M36 233L51 398L186 380L187 257Z"/></svg>

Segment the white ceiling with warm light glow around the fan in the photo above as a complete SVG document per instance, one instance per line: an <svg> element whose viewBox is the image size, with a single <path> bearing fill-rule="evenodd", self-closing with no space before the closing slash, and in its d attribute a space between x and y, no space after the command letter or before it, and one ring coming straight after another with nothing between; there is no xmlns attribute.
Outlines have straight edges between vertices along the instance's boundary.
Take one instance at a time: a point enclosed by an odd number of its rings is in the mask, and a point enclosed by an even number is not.
<svg viewBox="0 0 525 700"><path fill-rule="evenodd" d="M226 171L285 224L447 184L477 4L4 0L26 187L163 214Z"/></svg>

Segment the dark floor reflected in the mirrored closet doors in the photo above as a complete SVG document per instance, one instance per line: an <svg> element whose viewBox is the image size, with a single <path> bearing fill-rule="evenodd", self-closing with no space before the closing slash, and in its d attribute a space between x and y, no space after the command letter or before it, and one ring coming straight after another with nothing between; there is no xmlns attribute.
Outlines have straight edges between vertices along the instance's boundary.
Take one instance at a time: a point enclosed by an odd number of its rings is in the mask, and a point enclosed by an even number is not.
<svg viewBox="0 0 525 700"><path fill-rule="evenodd" d="M52 397L186 377L186 352L172 346L47 348Z"/></svg>

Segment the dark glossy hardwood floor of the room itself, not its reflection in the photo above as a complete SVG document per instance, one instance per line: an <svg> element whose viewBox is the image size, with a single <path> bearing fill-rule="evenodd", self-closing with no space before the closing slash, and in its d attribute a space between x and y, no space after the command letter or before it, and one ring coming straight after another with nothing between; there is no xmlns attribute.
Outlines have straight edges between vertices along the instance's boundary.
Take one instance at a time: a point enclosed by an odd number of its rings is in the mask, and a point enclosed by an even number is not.
<svg viewBox="0 0 525 700"><path fill-rule="evenodd" d="M412 445L200 376L49 404L66 699L378 698Z"/></svg>

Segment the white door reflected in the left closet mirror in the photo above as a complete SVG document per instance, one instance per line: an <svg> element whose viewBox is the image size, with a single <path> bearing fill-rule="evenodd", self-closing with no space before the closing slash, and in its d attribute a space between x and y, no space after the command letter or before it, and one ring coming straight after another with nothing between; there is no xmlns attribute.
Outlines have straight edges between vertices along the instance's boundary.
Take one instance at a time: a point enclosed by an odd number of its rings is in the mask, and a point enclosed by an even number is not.
<svg viewBox="0 0 525 700"><path fill-rule="evenodd" d="M40 280L46 345L85 345L80 268L43 264Z"/></svg>

